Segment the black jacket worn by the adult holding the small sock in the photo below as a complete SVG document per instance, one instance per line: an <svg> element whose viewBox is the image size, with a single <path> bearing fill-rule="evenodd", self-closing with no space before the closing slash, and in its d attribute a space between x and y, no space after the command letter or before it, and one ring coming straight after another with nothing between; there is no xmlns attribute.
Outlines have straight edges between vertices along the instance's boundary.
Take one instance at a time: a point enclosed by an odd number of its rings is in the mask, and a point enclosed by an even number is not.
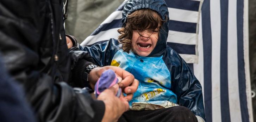
<svg viewBox="0 0 256 122"><path fill-rule="evenodd" d="M68 85L84 87L84 82L71 79L82 75L84 80L87 74L72 74L71 69L91 63L81 63L89 60L84 51L69 53L62 8L62 0L1 0L0 53L39 121L100 121L104 103Z"/></svg>

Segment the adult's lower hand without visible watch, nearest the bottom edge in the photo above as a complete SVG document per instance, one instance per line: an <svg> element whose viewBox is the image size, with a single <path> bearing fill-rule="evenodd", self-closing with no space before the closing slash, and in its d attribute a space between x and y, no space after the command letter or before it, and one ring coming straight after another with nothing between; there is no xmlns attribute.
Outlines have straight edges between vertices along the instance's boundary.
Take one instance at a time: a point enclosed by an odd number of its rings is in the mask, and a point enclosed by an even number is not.
<svg viewBox="0 0 256 122"><path fill-rule="evenodd" d="M105 113L102 122L116 122L119 117L129 109L129 103L124 99L123 95L117 98L115 94L118 92L118 85L105 89L98 96L98 100L102 100L105 104Z"/></svg>

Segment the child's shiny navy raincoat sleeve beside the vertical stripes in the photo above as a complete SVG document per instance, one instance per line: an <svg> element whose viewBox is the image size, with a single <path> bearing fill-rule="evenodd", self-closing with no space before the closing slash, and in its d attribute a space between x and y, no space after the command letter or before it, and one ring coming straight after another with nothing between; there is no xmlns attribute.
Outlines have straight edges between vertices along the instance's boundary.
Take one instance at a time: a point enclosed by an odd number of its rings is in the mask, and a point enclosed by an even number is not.
<svg viewBox="0 0 256 122"><path fill-rule="evenodd" d="M196 79L188 64L177 55L175 62L178 66L171 69L173 92L177 95L179 105L189 108L196 116L205 120L202 87Z"/></svg>

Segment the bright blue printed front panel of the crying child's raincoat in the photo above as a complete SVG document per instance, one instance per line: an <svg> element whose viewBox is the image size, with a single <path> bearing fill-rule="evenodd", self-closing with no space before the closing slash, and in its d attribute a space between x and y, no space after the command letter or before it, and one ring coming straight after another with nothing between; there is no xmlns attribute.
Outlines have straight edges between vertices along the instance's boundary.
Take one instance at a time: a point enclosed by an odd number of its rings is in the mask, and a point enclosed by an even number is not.
<svg viewBox="0 0 256 122"><path fill-rule="evenodd" d="M147 102L161 105L161 102L177 103L177 96L170 90L171 76L162 56L141 57L134 53L118 50L111 65L119 66L139 80L139 86L129 102Z"/></svg>

